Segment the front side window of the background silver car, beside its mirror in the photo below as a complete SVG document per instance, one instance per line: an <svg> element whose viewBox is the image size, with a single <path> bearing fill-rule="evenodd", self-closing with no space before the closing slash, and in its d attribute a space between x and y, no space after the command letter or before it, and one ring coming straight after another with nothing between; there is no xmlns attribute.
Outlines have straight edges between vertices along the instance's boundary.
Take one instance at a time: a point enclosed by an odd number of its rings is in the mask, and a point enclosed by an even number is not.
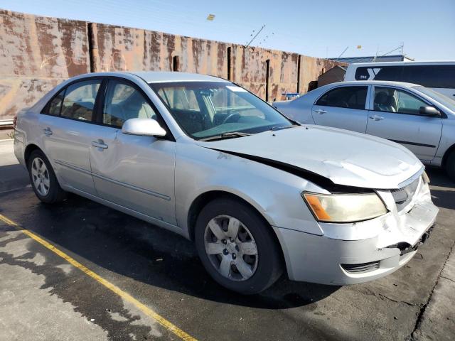
<svg viewBox="0 0 455 341"><path fill-rule="evenodd" d="M391 87L375 87L374 108L377 112L396 112L398 114L419 115L420 107L428 104L402 90Z"/></svg>

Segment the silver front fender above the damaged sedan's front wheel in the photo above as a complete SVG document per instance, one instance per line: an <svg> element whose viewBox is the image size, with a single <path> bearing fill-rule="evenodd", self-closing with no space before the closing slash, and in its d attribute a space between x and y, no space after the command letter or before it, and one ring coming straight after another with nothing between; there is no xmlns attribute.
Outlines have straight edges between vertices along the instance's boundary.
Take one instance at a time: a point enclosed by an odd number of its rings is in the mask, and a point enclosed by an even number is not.
<svg viewBox="0 0 455 341"><path fill-rule="evenodd" d="M275 227L322 235L301 192L321 191L313 183L240 156L191 143L176 151L176 219L189 232L188 212L203 193L219 190L241 197Z"/></svg>

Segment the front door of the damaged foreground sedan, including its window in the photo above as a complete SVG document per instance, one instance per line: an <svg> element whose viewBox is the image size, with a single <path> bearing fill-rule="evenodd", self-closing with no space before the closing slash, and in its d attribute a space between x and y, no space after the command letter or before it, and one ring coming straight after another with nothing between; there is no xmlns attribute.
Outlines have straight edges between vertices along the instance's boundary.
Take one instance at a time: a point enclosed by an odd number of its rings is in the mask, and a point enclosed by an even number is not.
<svg viewBox="0 0 455 341"><path fill-rule="evenodd" d="M138 87L107 82L102 125L90 147L97 195L117 205L176 224L174 162L176 142L122 133L127 119L157 119L156 109Z"/></svg>

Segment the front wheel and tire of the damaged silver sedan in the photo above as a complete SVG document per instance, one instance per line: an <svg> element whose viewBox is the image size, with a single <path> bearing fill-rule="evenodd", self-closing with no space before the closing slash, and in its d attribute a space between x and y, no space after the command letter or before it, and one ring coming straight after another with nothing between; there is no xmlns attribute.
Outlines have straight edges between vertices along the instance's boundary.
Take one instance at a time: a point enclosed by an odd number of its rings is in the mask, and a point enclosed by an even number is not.
<svg viewBox="0 0 455 341"><path fill-rule="evenodd" d="M205 269L221 286L242 294L259 293L282 274L282 252L273 233L252 207L220 198L198 215L196 249Z"/></svg>

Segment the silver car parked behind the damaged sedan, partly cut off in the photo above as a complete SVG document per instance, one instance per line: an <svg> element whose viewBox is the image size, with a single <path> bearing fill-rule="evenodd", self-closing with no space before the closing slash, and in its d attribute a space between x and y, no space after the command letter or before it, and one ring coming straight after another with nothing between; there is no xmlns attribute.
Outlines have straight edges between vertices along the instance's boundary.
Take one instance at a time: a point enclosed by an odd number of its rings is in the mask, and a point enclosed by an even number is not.
<svg viewBox="0 0 455 341"><path fill-rule="evenodd" d="M402 82L336 82L273 105L299 122L395 141L455 181L455 101L444 94Z"/></svg>

